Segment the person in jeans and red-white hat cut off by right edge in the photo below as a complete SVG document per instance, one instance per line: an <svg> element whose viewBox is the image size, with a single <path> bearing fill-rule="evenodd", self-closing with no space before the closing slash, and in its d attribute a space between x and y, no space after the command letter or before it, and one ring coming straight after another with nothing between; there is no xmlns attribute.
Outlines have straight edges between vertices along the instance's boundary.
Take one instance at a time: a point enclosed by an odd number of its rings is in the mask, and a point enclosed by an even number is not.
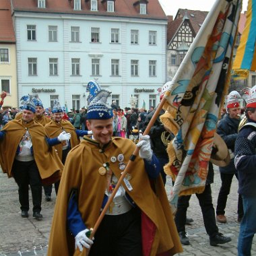
<svg viewBox="0 0 256 256"><path fill-rule="evenodd" d="M243 197L244 216L238 236L238 256L251 255L256 233L256 86L249 92L245 109L247 123L241 127L234 145L234 165L238 171L238 193Z"/></svg>

